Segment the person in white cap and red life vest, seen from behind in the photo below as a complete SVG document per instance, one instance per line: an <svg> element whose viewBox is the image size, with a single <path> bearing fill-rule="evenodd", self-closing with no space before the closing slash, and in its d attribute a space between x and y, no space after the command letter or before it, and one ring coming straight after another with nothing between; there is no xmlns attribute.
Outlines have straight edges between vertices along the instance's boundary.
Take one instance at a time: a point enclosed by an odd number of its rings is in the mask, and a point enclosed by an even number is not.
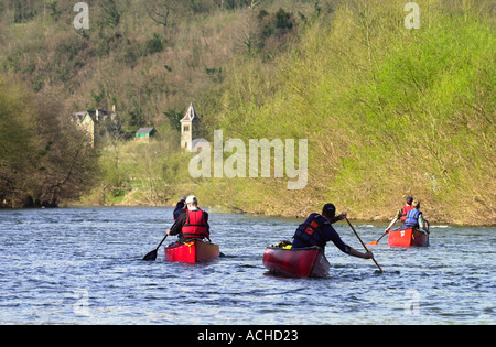
<svg viewBox="0 0 496 347"><path fill-rule="evenodd" d="M198 208L196 196L188 196L185 200L186 208L181 212L171 229L166 234L180 235L179 242L187 242L191 239L204 239L209 237L208 214Z"/></svg>

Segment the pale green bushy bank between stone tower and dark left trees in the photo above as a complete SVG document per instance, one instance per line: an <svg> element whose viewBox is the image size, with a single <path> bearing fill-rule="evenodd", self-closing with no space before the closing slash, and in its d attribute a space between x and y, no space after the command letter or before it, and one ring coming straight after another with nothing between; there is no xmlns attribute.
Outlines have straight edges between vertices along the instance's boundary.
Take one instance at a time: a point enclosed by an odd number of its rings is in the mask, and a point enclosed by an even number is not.
<svg viewBox="0 0 496 347"><path fill-rule="evenodd" d="M105 150L100 156L100 184L82 199L85 205L163 205L176 198L187 177L184 155L173 140L130 141ZM182 193L181 193L182 194Z"/></svg>

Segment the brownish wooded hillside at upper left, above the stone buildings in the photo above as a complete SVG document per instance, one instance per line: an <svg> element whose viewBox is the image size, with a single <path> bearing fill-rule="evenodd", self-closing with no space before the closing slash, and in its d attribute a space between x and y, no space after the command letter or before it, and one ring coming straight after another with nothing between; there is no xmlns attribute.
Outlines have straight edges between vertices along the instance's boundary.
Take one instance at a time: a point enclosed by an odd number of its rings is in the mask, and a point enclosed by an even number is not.
<svg viewBox="0 0 496 347"><path fill-rule="evenodd" d="M262 6L270 19L280 7L313 10L308 1L290 0L86 1L89 30L78 31L76 2L0 0L0 71L57 99L68 113L116 105L129 132L175 121L164 115L184 112L207 95L247 40L267 52L285 42L256 33ZM293 15L282 13L282 25L290 25ZM268 30L274 25L281 23L267 23Z"/></svg>

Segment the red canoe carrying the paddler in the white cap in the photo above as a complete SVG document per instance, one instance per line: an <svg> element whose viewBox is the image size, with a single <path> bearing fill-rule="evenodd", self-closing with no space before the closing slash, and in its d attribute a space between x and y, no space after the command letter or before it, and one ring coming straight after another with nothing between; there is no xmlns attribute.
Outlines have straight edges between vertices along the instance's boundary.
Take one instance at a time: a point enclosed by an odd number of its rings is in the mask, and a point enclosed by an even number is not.
<svg viewBox="0 0 496 347"><path fill-rule="evenodd" d="M192 240L187 243L173 243L165 247L165 261L187 263L209 262L218 258L218 245Z"/></svg>

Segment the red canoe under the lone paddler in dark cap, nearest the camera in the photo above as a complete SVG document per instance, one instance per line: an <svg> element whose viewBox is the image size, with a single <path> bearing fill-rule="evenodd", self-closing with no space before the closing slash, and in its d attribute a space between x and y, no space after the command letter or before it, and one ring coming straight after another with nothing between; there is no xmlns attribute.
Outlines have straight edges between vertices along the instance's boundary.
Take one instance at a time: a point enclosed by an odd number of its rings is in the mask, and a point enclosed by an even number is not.
<svg viewBox="0 0 496 347"><path fill-rule="evenodd" d="M328 275L331 264L320 247L284 249L267 247L263 265L272 272L299 278L323 278Z"/></svg>

